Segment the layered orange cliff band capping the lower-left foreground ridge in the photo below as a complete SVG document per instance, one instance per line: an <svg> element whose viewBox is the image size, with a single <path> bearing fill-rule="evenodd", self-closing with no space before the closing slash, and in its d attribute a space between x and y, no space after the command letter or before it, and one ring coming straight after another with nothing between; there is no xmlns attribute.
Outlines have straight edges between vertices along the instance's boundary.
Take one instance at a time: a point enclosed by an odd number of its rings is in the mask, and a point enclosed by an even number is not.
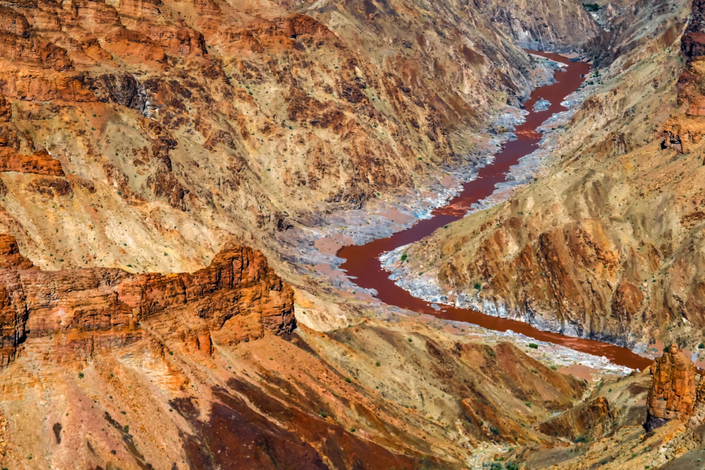
<svg viewBox="0 0 705 470"><path fill-rule="evenodd" d="M15 359L28 338L61 334L70 363L135 340L143 328L178 338L206 354L223 345L295 328L293 290L246 247L219 253L195 273L133 275L117 269L38 271L9 237L0 270L0 364ZM13 266L9 266L13 264ZM71 353L76 354L71 354Z"/></svg>

